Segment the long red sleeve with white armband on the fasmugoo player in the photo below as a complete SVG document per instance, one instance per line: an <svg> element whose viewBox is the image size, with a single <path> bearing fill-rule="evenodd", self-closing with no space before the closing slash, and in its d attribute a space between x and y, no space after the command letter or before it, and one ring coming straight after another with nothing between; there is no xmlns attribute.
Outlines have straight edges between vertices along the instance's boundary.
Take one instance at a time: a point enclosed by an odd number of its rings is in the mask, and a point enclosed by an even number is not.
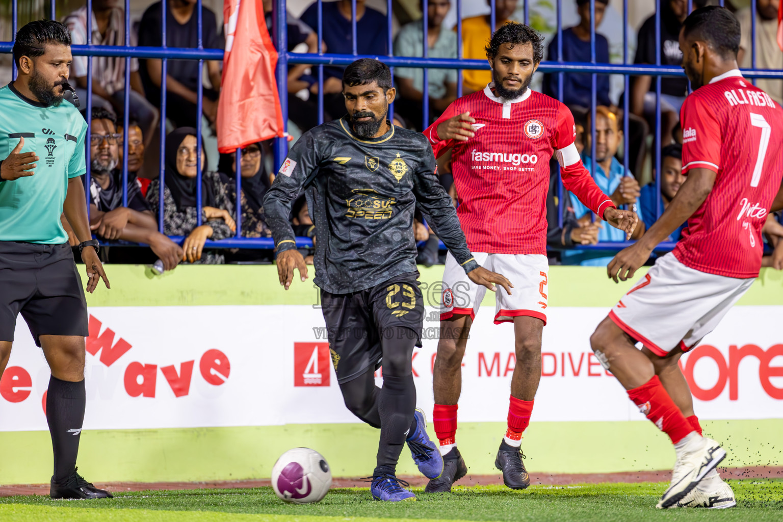
<svg viewBox="0 0 783 522"><path fill-rule="evenodd" d="M560 175L563 185L579 198L579 201L594 211L599 218L604 217L604 211L609 207L615 207L615 203L604 194L582 164L582 158L576 150L574 138L576 137L576 125L571 110L564 104L560 104L557 113L557 128L554 132L554 149L557 162L560 164Z"/></svg>

